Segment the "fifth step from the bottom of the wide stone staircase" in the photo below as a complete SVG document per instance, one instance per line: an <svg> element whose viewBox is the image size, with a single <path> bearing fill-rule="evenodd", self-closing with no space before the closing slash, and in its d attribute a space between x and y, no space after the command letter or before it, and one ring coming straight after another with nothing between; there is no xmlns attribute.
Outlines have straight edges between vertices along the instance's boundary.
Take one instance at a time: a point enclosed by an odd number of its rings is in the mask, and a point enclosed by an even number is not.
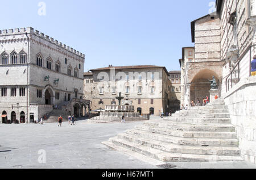
<svg viewBox="0 0 256 180"><path fill-rule="evenodd" d="M146 122L148 127L160 127L177 131L207 131L207 132L235 132L236 128L231 124L197 124L197 123L177 123L177 122Z"/></svg>

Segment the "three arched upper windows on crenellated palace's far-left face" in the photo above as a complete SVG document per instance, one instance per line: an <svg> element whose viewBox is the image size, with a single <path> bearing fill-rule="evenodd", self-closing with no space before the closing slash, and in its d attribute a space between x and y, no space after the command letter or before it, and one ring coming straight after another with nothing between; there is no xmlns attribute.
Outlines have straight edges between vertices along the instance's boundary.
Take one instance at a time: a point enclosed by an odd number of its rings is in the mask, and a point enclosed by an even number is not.
<svg viewBox="0 0 256 180"><path fill-rule="evenodd" d="M19 53L16 53L15 51L11 53L10 57L6 52L3 52L1 55L1 64L25 64L27 62L27 54L22 51Z"/></svg>

